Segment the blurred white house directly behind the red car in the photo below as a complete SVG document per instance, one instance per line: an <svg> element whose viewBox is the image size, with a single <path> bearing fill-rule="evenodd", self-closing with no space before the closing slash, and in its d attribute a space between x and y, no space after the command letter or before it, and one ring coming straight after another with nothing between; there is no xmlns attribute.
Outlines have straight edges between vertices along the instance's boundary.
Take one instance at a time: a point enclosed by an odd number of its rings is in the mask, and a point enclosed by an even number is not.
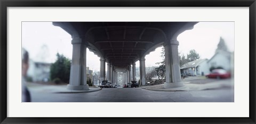
<svg viewBox="0 0 256 124"><path fill-rule="evenodd" d="M231 53L227 51L217 51L208 61L209 68L221 67L227 71L231 71Z"/></svg>

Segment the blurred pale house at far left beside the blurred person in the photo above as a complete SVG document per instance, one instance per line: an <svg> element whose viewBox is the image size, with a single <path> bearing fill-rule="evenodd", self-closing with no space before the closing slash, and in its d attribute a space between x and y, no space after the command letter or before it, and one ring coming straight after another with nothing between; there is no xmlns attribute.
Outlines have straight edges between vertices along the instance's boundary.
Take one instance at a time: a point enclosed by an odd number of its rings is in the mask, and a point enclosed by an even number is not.
<svg viewBox="0 0 256 124"><path fill-rule="evenodd" d="M32 78L32 81L48 81L50 79L51 63L35 62L29 60L28 77Z"/></svg>

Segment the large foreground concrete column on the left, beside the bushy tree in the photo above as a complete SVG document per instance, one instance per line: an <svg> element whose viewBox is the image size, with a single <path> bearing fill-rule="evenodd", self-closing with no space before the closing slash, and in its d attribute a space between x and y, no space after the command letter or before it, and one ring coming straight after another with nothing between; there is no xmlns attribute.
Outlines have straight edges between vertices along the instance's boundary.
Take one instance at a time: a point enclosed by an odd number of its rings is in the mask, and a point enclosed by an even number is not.
<svg viewBox="0 0 256 124"><path fill-rule="evenodd" d="M70 78L67 89L89 90L86 81L86 48L82 39L75 37L71 41L73 45L72 62L70 68Z"/></svg>

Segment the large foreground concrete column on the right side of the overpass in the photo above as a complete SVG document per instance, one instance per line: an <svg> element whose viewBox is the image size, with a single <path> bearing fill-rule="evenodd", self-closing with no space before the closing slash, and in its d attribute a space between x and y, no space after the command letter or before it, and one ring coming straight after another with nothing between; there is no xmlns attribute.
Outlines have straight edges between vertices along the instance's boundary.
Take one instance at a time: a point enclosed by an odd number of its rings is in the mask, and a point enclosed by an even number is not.
<svg viewBox="0 0 256 124"><path fill-rule="evenodd" d="M165 69L166 69L166 82L164 88L181 87L183 82L180 76L179 65L179 42L171 40L169 44L165 44Z"/></svg>

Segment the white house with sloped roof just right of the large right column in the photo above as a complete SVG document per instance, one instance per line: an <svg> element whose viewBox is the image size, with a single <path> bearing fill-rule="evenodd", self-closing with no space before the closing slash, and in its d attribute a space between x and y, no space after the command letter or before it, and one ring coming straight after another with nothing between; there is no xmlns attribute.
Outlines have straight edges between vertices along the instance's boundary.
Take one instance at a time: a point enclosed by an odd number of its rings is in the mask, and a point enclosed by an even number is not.
<svg viewBox="0 0 256 124"><path fill-rule="evenodd" d="M207 59L198 59L183 64L180 67L181 73L187 73L190 76L204 76L210 73Z"/></svg>

